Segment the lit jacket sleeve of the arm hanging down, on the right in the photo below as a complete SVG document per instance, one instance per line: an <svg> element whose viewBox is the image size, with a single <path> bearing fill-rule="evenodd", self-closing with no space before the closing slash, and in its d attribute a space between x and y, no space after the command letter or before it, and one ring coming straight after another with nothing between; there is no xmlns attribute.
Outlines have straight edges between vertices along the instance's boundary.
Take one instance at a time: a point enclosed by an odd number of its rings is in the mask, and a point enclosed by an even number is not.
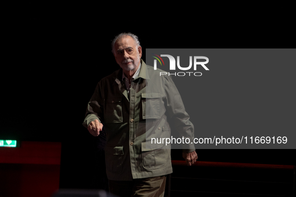
<svg viewBox="0 0 296 197"><path fill-rule="evenodd" d="M190 139L189 143L182 144L183 152L192 152L195 150L193 143L194 126L189 120L189 115L185 111L181 95L171 76L165 76L164 80L168 118L171 120L171 122L173 122L174 128L180 133L182 137Z"/></svg>

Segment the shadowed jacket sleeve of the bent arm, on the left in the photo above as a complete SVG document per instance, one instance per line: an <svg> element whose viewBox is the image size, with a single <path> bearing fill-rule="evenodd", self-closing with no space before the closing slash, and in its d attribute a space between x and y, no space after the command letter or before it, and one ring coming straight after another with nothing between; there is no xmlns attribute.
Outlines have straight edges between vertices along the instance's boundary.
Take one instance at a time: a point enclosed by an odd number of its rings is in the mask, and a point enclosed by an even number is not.
<svg viewBox="0 0 296 197"><path fill-rule="evenodd" d="M88 102L83 125L87 127L91 121L98 119L100 122L104 119L104 100L102 98L100 82L98 82L95 92Z"/></svg>

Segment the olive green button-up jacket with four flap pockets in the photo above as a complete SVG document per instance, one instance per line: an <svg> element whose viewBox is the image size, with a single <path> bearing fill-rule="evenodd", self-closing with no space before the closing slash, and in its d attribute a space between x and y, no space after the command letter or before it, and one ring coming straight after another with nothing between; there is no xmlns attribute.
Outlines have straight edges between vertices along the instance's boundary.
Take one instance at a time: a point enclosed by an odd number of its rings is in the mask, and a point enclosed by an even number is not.
<svg viewBox="0 0 296 197"><path fill-rule="evenodd" d="M102 78L88 103L85 127L99 119L107 135L107 176L111 180L132 180L172 173L169 145L151 143L151 138L170 136L168 120L181 136L193 140L181 96L170 76L160 75L141 59L141 69L132 80L130 94L122 81L122 69ZM186 147L194 151L194 145Z"/></svg>

